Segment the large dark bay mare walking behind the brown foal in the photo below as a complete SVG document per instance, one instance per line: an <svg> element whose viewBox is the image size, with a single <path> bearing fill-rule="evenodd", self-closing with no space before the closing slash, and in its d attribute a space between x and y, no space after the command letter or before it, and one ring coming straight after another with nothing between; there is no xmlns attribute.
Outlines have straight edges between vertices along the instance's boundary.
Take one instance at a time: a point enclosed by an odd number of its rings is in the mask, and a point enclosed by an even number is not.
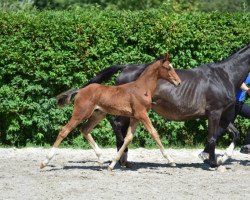
<svg viewBox="0 0 250 200"><path fill-rule="evenodd" d="M128 83L136 80L147 66L148 64L115 65L102 71L86 85L108 80L119 70L123 71L117 77L117 84ZM229 127L228 129L234 133L235 139L239 137L233 124L228 126L229 122L225 116L234 110L235 91L240 87L249 71L250 44L220 62L204 64L191 70L176 70L182 80L181 86L176 88L165 80L158 81L152 109L169 120L207 118L208 144L206 149L209 151L207 162L211 167L216 167L220 164L215 159L215 144L219 136L216 133L219 126ZM119 149L123 144L129 120L124 117L116 117L111 124ZM233 148L234 144L230 145L227 154L232 154Z"/></svg>

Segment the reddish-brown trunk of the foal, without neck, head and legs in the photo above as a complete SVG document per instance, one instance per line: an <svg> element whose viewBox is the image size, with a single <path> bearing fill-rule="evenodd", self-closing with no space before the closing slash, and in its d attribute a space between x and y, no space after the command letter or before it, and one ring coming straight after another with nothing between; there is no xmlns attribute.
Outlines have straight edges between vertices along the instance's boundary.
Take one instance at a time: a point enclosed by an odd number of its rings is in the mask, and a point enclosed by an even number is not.
<svg viewBox="0 0 250 200"><path fill-rule="evenodd" d="M75 104L82 104L82 106L88 104L93 109L112 115L133 116L135 107L147 102L147 99L142 96L143 91L135 82L119 86L94 83L79 90ZM147 104L150 104L150 100L151 98L148 99Z"/></svg>

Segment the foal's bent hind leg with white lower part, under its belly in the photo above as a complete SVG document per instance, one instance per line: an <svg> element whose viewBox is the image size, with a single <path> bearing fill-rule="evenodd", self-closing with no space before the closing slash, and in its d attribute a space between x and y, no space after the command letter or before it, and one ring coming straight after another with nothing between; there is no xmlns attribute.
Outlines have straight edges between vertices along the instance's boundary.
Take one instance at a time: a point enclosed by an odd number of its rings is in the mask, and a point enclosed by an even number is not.
<svg viewBox="0 0 250 200"><path fill-rule="evenodd" d="M96 156L98 157L98 163L102 164L101 160L101 149L98 147L97 143L93 139L91 135L92 129L104 118L106 117L106 113L98 110L95 111L92 116L88 119L88 121L80 128L83 136L89 142L90 146L94 149Z"/></svg>

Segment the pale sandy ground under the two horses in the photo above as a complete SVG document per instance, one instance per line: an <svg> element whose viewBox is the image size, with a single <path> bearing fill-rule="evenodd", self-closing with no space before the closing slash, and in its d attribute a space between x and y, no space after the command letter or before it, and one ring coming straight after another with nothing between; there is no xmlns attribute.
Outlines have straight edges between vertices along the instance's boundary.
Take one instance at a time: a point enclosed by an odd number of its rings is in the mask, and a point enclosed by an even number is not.
<svg viewBox="0 0 250 200"><path fill-rule="evenodd" d="M115 149L103 149L105 168L92 150L59 149L40 170L48 151L0 149L0 199L250 199L250 155L238 151L224 172L203 164L201 150L168 149L177 163L170 167L159 150L143 148L130 150L129 169L106 170Z"/></svg>

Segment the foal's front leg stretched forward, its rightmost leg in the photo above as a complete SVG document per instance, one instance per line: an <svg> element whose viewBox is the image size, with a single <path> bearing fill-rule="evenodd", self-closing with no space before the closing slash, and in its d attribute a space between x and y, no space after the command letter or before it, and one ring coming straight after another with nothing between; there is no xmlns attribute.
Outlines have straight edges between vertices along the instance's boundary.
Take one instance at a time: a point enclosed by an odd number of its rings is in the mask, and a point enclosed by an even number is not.
<svg viewBox="0 0 250 200"><path fill-rule="evenodd" d="M148 130L148 132L151 134L151 136L153 137L153 139L156 141L156 143L159 145L163 157L168 160L168 163L171 166L176 166L173 158L170 155L168 155L167 152L165 151L165 149L164 149L164 147L163 147L163 145L161 143L159 134L157 133L157 131L153 127L153 125L152 125L152 123L151 123L151 121L150 121L150 119L148 117L148 114L145 113L143 116L140 117L140 120L143 123L143 125L146 127L146 129Z"/></svg>

